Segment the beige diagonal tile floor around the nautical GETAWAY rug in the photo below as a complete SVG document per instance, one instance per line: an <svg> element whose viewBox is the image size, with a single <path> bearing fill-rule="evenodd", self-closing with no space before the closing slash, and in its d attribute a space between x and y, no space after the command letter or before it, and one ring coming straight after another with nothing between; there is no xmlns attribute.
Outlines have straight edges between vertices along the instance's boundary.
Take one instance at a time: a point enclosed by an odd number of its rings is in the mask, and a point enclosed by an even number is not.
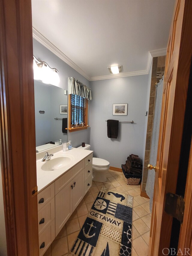
<svg viewBox="0 0 192 256"><path fill-rule="evenodd" d="M151 225L149 199L140 196L140 185L127 185L121 172L109 170L107 173L106 182L93 182L92 187L79 203L79 206L70 216L69 220L52 242L44 256L73 255L69 253L69 250L72 247L73 242L75 241L79 230L82 227L88 212L103 185L119 192L131 194L134 197L132 256L148 255L149 233Z"/></svg>

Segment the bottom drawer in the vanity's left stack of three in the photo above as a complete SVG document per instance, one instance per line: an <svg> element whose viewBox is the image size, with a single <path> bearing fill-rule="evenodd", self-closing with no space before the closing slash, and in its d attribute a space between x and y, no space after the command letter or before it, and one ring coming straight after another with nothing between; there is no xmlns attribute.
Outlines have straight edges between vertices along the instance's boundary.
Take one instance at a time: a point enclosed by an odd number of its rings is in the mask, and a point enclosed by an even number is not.
<svg viewBox="0 0 192 256"><path fill-rule="evenodd" d="M55 219L39 236L39 256L42 256L55 239Z"/></svg>

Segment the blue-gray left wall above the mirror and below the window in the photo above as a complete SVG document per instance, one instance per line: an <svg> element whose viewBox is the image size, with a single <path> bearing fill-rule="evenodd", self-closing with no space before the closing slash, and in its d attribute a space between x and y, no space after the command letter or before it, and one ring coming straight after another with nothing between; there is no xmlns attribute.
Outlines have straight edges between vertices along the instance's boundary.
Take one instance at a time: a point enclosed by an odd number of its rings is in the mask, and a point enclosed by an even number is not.
<svg viewBox="0 0 192 256"><path fill-rule="evenodd" d="M56 68L59 71L60 83L58 87L61 87L65 90L68 90L68 77L75 77L81 83L89 86L89 81L71 68L67 63L57 57L54 53L40 44L37 40L33 38L33 54L34 56L41 61L45 61L49 64L51 68ZM42 115L43 116L43 115ZM55 121L59 122L59 121ZM61 122L61 121L60 121ZM47 128L48 129L48 128ZM48 132L48 131L47 131ZM68 132L68 141L72 141L72 146L80 146L82 142L90 143L89 128L82 131ZM61 138L58 138L61 139ZM49 140L48 140L49 141Z"/></svg>

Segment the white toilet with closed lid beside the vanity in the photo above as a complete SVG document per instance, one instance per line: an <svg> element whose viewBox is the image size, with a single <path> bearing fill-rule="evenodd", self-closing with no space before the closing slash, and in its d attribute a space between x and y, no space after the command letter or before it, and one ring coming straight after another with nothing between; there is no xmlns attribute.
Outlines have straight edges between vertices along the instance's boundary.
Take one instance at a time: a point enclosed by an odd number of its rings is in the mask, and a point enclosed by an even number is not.
<svg viewBox="0 0 192 256"><path fill-rule="evenodd" d="M91 146L85 144L85 147L78 147L79 149L90 150ZM105 182L107 181L107 171L110 163L102 158L93 157L93 181Z"/></svg>

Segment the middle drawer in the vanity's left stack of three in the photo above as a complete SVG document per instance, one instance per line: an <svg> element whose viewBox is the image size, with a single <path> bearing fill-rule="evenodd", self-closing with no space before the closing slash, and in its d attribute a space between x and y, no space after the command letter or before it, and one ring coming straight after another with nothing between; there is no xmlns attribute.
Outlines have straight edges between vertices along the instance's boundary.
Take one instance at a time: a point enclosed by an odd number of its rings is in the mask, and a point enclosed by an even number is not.
<svg viewBox="0 0 192 256"><path fill-rule="evenodd" d="M38 230L39 235L55 218L55 197L53 197L41 210L38 211Z"/></svg>

